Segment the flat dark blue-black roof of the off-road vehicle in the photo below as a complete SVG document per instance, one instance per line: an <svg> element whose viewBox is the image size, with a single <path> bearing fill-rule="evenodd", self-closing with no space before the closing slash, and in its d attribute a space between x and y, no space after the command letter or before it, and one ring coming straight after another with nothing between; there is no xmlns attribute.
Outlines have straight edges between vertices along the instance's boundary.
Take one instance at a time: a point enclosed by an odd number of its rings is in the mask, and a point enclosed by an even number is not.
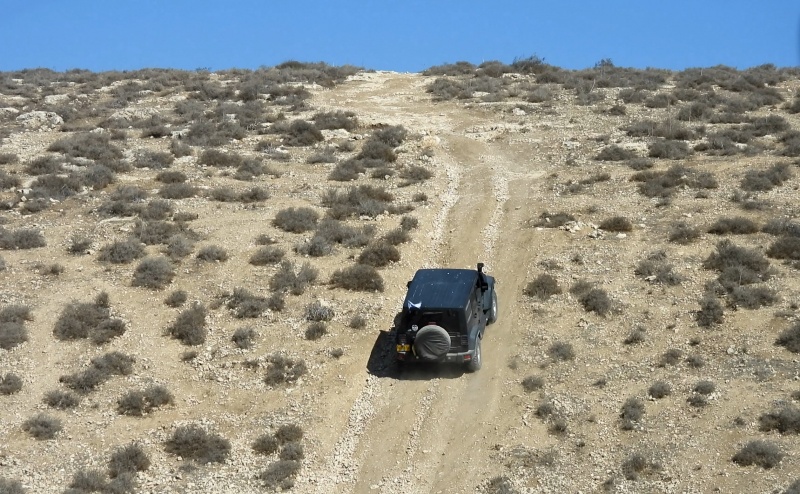
<svg viewBox="0 0 800 494"><path fill-rule="evenodd" d="M420 269L408 287L403 309L464 308L477 278L474 269Z"/></svg>

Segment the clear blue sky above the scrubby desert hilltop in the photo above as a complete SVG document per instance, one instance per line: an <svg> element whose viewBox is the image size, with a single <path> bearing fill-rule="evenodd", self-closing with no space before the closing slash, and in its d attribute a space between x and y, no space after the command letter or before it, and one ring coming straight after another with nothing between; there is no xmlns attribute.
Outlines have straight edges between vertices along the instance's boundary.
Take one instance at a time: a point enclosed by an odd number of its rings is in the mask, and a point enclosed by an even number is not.
<svg viewBox="0 0 800 494"><path fill-rule="evenodd" d="M800 0L0 0L0 71L800 66Z"/></svg>

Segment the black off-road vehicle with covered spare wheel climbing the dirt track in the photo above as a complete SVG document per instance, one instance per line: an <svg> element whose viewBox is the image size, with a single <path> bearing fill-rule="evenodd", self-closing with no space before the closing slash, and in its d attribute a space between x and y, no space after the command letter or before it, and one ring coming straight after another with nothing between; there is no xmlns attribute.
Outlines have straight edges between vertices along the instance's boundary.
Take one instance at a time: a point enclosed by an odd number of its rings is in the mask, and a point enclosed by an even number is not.
<svg viewBox="0 0 800 494"><path fill-rule="evenodd" d="M478 269L420 269L395 320L397 361L481 368L481 340L497 320L495 280Z"/></svg>

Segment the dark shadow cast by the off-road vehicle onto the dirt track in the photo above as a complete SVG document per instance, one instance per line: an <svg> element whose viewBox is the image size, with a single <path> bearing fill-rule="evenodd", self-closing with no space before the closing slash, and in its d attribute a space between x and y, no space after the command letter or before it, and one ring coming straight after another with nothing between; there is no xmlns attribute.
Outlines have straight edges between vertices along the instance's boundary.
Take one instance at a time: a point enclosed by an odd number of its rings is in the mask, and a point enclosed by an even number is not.
<svg viewBox="0 0 800 494"><path fill-rule="evenodd" d="M462 365L427 362L399 365L395 360L394 332L381 330L367 359L367 371L380 378L422 381L436 378L457 379L466 373L466 368Z"/></svg>

